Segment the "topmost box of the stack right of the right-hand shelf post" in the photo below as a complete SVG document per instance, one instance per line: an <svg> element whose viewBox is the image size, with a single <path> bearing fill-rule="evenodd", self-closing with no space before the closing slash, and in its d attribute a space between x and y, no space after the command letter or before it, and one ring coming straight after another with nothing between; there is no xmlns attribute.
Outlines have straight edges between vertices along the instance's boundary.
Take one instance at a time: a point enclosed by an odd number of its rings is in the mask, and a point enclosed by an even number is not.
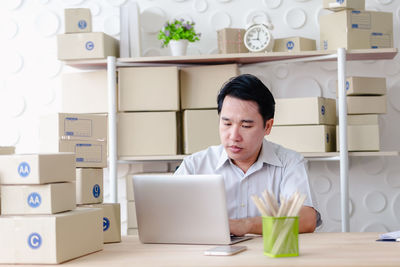
<svg viewBox="0 0 400 267"><path fill-rule="evenodd" d="M384 95L386 94L386 78L347 77L347 95Z"/></svg>

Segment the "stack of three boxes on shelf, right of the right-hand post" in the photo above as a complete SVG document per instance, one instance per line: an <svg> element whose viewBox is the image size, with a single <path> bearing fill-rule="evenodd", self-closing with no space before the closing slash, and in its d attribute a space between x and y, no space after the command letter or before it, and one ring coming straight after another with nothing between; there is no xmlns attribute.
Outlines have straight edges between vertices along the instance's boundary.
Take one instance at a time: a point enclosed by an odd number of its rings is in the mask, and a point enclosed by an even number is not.
<svg viewBox="0 0 400 267"><path fill-rule="evenodd" d="M387 109L386 79L348 77L346 94L348 150L379 151L378 114L386 113ZM339 134L337 142L339 144ZM339 145L337 149L339 150Z"/></svg>

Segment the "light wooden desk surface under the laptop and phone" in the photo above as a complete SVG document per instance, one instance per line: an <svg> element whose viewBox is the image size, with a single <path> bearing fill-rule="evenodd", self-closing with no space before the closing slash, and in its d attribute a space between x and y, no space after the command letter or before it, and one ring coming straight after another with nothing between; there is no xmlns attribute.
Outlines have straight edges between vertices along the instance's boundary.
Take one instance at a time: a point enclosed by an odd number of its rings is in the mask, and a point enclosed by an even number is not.
<svg viewBox="0 0 400 267"><path fill-rule="evenodd" d="M400 266L400 242L377 242L378 233L314 233L299 236L300 256L269 258L261 237L241 242L247 250L234 256L204 256L209 245L141 244L123 237L104 250L63 266Z"/></svg>

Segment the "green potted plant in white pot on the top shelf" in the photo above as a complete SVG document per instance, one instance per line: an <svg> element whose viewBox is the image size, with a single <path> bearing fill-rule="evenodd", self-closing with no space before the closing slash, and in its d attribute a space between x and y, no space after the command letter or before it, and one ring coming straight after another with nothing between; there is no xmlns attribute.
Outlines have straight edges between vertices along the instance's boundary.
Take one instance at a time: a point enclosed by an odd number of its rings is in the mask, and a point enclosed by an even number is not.
<svg viewBox="0 0 400 267"><path fill-rule="evenodd" d="M169 46L173 56L186 54L188 42L200 40L200 33L194 30L194 22L184 19L167 22L158 34L158 39L162 40L162 47Z"/></svg>

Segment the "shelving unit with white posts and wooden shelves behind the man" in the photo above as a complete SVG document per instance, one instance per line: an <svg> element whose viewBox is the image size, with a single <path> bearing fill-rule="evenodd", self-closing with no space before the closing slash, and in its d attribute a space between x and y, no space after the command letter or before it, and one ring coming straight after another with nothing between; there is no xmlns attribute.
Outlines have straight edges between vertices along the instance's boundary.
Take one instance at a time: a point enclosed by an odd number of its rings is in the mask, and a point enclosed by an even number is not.
<svg viewBox="0 0 400 267"><path fill-rule="evenodd" d="M118 159L117 153L117 99L116 73L120 67L133 66L184 66L209 64L276 64L306 61L337 61L338 64L338 103L339 103L339 138L340 152L303 153L309 160L339 160L341 185L341 215L342 231L349 231L349 156L398 156L398 152L348 152L347 150L347 104L345 92L346 61L348 60L383 60L393 59L397 49L365 49L346 51L339 48L337 51L307 51L307 52L273 52L273 53L246 53L246 54L218 54L202 56L180 57L140 57L119 58L108 57L107 60L69 61L68 65L80 69L107 68L108 95L109 95L109 179L111 200L117 202L117 165L118 163L148 162L148 161L180 161L184 155L124 157Z"/></svg>

